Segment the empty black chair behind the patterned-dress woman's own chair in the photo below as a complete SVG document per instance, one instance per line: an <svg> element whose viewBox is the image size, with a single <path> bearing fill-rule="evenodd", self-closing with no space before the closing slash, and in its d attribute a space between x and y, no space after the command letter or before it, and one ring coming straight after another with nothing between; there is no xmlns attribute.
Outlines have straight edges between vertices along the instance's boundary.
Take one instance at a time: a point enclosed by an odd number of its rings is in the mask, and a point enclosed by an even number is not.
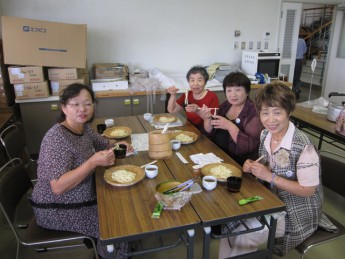
<svg viewBox="0 0 345 259"><path fill-rule="evenodd" d="M8 160L20 158L29 172L31 180L37 180L37 161L30 157L25 137L20 128L12 124L0 133L0 142L5 149Z"/></svg>

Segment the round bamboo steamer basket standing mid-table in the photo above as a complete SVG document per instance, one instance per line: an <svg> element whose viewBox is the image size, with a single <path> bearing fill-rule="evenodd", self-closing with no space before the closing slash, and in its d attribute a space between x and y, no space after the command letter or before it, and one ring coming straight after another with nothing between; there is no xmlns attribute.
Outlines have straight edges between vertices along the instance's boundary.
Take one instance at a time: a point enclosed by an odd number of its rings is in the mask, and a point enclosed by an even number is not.
<svg viewBox="0 0 345 259"><path fill-rule="evenodd" d="M172 156L170 135L162 134L160 130L149 132L149 157L164 159Z"/></svg>

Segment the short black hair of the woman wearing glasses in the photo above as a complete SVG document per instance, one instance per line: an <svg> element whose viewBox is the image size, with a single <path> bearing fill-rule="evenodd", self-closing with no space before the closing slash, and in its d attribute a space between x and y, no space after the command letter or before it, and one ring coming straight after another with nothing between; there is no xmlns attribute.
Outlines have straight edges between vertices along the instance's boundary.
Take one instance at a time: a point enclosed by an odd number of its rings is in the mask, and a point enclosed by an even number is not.
<svg viewBox="0 0 345 259"><path fill-rule="evenodd" d="M81 90L85 89L86 91L89 92L91 99L92 99L92 103L95 103L96 97L95 97L95 93L93 92L93 90L84 84L80 84L80 83L74 83L71 84L69 86L67 86L64 90L61 91L60 93L60 105L66 105L68 103L68 101L71 98L74 98L76 96L78 96L81 92ZM92 118L90 119L90 121L92 121L94 118L94 115L92 115ZM58 117L58 122L63 122L66 120L66 114L62 111L62 109L60 109L60 115Z"/></svg>

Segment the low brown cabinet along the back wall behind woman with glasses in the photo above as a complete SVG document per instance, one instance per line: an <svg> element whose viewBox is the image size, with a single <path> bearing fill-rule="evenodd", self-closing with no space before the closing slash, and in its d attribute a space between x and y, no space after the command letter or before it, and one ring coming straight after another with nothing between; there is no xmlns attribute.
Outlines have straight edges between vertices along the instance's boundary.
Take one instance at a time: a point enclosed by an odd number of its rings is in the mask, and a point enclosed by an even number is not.
<svg viewBox="0 0 345 259"><path fill-rule="evenodd" d="M99 96L98 96L99 95ZM165 113L165 91L155 95L146 92L109 91L106 96L96 93L95 117L119 117L151 113ZM24 134L31 155L39 153L42 139L56 123L60 113L59 98L16 100L19 103Z"/></svg>

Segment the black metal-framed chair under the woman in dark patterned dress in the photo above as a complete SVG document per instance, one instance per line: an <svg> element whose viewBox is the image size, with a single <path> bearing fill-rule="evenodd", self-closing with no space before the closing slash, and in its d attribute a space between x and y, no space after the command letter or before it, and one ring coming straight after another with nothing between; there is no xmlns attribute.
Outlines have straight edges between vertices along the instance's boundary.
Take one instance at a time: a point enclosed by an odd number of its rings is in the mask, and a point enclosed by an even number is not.
<svg viewBox="0 0 345 259"><path fill-rule="evenodd" d="M93 238L73 232L42 228L37 225L34 216L28 224L27 229L21 230L19 234L15 223L15 212L23 196L32 188L32 182L23 162L19 158L8 161L0 168L0 173L2 174L0 179L0 208L16 238L17 259L20 245L35 247L37 252L43 252L54 249L88 246L89 244L92 244L95 258L98 259L96 244ZM22 233L22 231L25 231L25 233ZM82 241L82 243L70 243L77 240Z"/></svg>

